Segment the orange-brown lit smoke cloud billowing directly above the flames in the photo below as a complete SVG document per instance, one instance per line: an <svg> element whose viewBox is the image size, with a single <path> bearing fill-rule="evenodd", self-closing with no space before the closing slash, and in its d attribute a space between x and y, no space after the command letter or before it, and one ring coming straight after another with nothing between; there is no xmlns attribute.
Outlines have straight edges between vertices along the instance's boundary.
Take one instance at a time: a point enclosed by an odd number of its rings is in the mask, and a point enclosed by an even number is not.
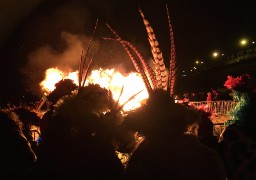
<svg viewBox="0 0 256 180"><path fill-rule="evenodd" d="M85 55L87 63L93 57L91 70L115 68L123 74L134 71L129 56L117 41L100 41L99 38L94 38L89 45L91 37L69 32L62 32L60 38L66 47L62 52L50 45L39 47L28 54L28 61L21 69L34 94L42 93L39 84L44 80L47 69L58 68L63 72L77 71L81 57Z"/></svg>

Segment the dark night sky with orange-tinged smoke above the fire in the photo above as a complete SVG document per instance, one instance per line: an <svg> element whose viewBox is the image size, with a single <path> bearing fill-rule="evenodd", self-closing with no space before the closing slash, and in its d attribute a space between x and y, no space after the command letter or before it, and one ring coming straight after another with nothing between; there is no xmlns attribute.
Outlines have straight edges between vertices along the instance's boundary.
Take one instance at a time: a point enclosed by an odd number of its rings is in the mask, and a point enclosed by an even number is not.
<svg viewBox="0 0 256 180"><path fill-rule="evenodd" d="M213 50L228 55L239 48L242 37L256 40L256 6L247 0L1 0L0 101L31 92L39 95L38 83L50 67L77 70L82 44L88 42L97 18L90 51L95 54L95 68L133 70L121 45L102 39L114 37L105 23L150 59L138 7L151 23L168 60L166 3L180 70L190 68L196 59L212 61Z"/></svg>

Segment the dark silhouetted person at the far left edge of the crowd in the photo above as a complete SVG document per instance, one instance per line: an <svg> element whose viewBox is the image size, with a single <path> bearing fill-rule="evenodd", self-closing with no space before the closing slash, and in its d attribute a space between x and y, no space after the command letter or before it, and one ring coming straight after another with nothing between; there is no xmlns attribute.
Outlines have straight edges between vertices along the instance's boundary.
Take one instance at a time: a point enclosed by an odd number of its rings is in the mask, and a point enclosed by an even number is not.
<svg viewBox="0 0 256 180"><path fill-rule="evenodd" d="M35 168L37 157L22 126L17 114L0 110L0 179L28 179Z"/></svg>

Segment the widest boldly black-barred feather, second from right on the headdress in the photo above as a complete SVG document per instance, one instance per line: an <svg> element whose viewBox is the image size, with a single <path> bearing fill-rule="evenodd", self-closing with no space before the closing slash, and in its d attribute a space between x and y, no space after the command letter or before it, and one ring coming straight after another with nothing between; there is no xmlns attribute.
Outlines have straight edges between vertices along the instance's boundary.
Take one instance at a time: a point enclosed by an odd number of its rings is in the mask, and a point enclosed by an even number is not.
<svg viewBox="0 0 256 180"><path fill-rule="evenodd" d="M167 90L167 74L165 71L165 64L162 51L160 50L159 43L156 39L153 28L149 24L148 20L146 20L143 12L140 9L139 12L146 27L148 41L151 46L151 52L155 61L157 86L158 88Z"/></svg>

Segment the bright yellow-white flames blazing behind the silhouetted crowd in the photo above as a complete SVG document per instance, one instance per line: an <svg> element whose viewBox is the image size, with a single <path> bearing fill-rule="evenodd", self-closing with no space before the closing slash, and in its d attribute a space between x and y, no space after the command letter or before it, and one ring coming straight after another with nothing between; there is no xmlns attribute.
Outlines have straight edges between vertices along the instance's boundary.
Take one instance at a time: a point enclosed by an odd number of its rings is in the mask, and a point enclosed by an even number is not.
<svg viewBox="0 0 256 180"><path fill-rule="evenodd" d="M72 79L78 85L78 71L62 72L58 68L47 69L45 79L40 83L40 86L46 93L50 93L61 79ZM148 98L148 92L139 73L129 73L124 76L115 69L93 70L86 79L85 85L88 84L99 84L102 88L111 90L115 100L118 100L121 89L124 87L119 104L125 103L131 96L141 91L125 104L124 111L140 107L141 103Z"/></svg>

